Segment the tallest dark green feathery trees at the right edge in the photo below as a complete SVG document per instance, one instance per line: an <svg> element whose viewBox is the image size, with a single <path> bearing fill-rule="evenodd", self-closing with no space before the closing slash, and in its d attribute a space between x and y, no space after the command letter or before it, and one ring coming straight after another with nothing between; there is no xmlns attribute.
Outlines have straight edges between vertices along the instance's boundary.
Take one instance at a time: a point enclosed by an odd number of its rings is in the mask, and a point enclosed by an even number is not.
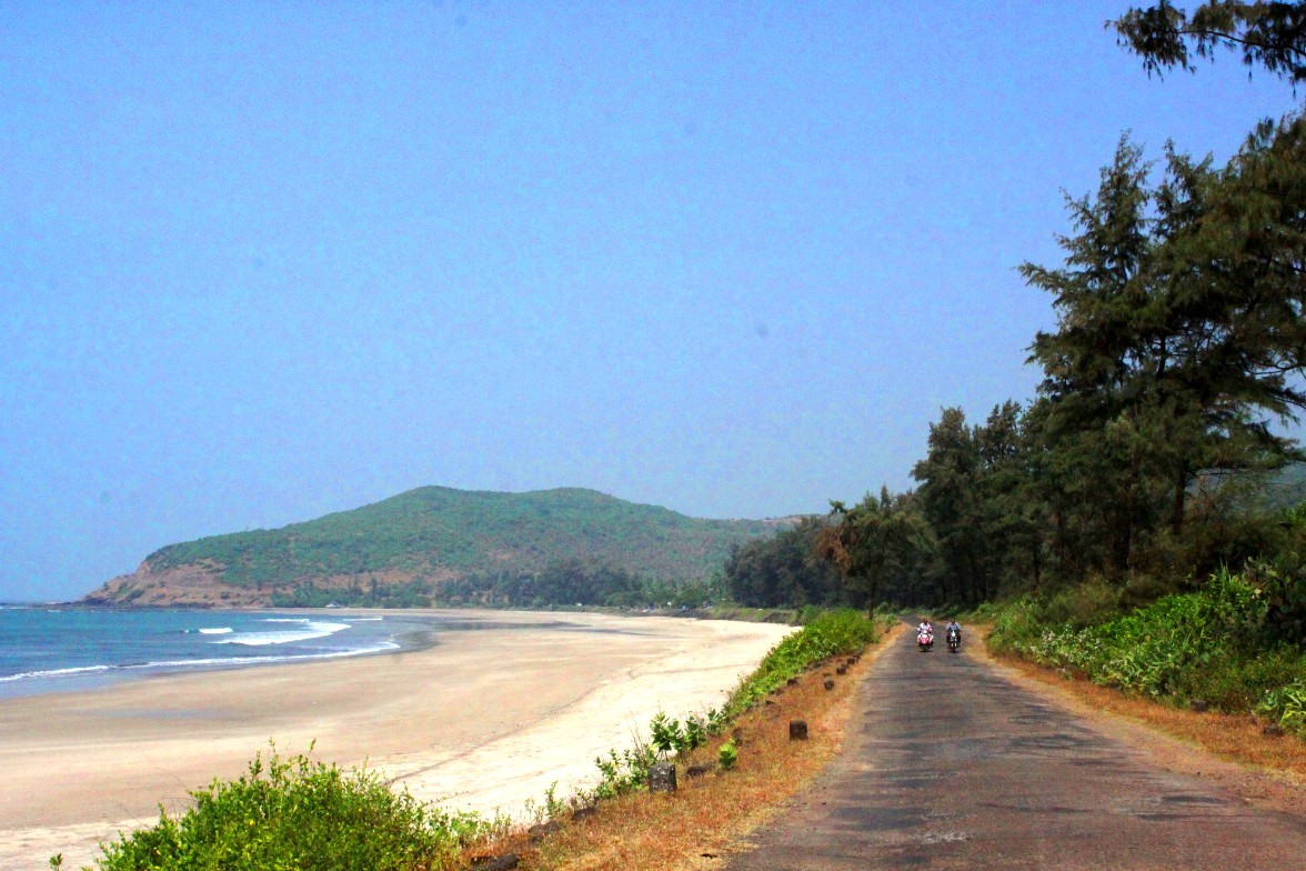
<svg viewBox="0 0 1306 871"><path fill-rule="evenodd" d="M1079 232L1062 239L1064 265L1021 268L1058 312L1032 346L1046 377L1030 432L1070 575L1123 577L1162 529L1182 535L1208 470L1297 456L1266 418L1306 407L1289 377L1306 296L1296 277L1264 274L1280 268L1252 256L1266 243L1246 222L1281 223L1273 259L1296 257L1299 217L1262 201L1262 176L1306 201L1302 133L1296 121L1258 132L1222 170L1168 150L1156 188L1141 149L1122 140L1096 197L1070 201Z"/></svg>

